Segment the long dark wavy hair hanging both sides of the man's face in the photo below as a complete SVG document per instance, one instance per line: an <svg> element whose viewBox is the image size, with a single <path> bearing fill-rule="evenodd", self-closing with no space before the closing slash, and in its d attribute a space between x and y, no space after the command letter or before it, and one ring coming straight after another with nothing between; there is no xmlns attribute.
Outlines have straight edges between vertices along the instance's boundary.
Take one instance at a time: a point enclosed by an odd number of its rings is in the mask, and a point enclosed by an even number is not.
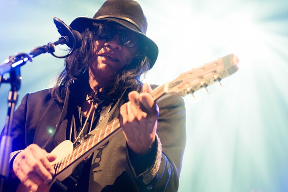
<svg viewBox="0 0 288 192"><path fill-rule="evenodd" d="M102 24L94 23L87 27L82 32L82 46L75 50L75 52L65 59L65 68L59 73L56 79L56 85L51 89L52 97L60 104L64 104L66 91L72 82L77 82L81 86L81 90L89 93L91 88L89 85L89 64L94 58L95 44L94 37L100 33ZM141 75L149 70L150 60L146 57L145 46L142 46L141 40L139 42L140 50L137 56L130 64L126 64L124 68L116 75L114 85L109 89L107 95L115 94L117 92L126 92L136 90L141 91L142 82Z"/></svg>

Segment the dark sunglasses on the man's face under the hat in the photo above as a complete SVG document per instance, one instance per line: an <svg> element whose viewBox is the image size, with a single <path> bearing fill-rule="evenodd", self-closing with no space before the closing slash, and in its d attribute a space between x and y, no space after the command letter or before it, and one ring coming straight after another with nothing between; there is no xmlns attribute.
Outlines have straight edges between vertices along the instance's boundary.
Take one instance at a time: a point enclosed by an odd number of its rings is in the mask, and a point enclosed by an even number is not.
<svg viewBox="0 0 288 192"><path fill-rule="evenodd" d="M103 26L100 30L100 33L97 35L97 37L100 40L110 40L112 39L116 34L119 35L119 42L121 45L124 45L125 47L135 47L139 38L138 36L128 30L125 29L117 29L116 26Z"/></svg>

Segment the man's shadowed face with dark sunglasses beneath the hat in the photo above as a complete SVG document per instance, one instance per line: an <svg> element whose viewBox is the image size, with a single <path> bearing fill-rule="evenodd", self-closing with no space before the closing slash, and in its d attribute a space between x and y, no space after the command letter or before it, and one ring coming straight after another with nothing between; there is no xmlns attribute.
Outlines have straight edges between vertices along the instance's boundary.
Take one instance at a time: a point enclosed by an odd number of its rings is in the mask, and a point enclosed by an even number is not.
<svg viewBox="0 0 288 192"><path fill-rule="evenodd" d="M131 44L134 40L129 36L129 31L124 27L113 26L112 33L105 34L103 30L98 37L95 37L95 58L90 65L90 72L94 77L101 80L111 80L125 64L131 63L139 50L138 43ZM128 35L127 33L128 32ZM119 38L120 37L120 38ZM131 41L127 41L131 39Z"/></svg>

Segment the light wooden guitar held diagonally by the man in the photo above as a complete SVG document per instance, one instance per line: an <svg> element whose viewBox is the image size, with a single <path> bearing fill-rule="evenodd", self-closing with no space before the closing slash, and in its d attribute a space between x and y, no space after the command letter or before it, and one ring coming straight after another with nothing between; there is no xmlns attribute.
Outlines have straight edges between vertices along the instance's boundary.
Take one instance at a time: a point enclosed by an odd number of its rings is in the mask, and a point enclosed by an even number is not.
<svg viewBox="0 0 288 192"><path fill-rule="evenodd" d="M195 91L206 88L208 85L217 82L238 70L239 60L235 55L228 55L213 62L204 64L190 71L180 74L173 81L158 86L151 93L155 101L168 93L177 93L181 96L193 94ZM57 159L51 162L55 170L53 181L48 184L41 184L37 192L49 192L51 186L69 177L76 166L96 151L101 145L120 132L119 119L114 119L106 126L97 129L96 133L84 140L83 143L73 149L73 144L69 140L60 143L52 154L57 155ZM29 192L23 185L18 186L17 192Z"/></svg>

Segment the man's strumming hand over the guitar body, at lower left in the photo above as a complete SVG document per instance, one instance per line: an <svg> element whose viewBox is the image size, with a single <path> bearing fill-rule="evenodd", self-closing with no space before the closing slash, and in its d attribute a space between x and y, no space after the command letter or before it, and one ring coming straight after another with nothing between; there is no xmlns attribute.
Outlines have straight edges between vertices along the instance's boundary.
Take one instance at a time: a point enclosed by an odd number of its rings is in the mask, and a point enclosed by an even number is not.
<svg viewBox="0 0 288 192"><path fill-rule="evenodd" d="M50 162L56 159L36 144L31 144L18 153L13 161L13 171L27 189L35 192L38 185L48 184L55 174Z"/></svg>

